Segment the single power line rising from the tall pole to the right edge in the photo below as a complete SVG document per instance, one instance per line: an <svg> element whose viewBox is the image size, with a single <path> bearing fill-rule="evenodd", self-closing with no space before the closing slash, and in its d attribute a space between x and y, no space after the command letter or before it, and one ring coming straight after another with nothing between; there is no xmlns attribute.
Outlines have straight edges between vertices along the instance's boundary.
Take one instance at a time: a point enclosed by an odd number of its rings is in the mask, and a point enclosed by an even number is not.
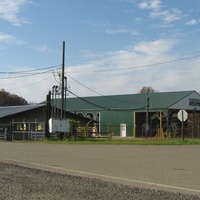
<svg viewBox="0 0 200 200"><path fill-rule="evenodd" d="M195 59L199 58L200 55L194 55L194 56L189 56L189 57L184 57L184 58L178 58L174 60L168 60L168 61L163 61L163 62L158 62L158 63L152 63L152 64L147 64L147 65L138 65L138 66L133 66L133 67L122 67L122 68L112 68L112 69L102 69L102 70L91 70L91 71L79 71L79 72L68 72L68 73L96 73L96 72L109 72L109 71L121 71L121 70L130 70L130 69L138 69L138 68L145 68L145 67L152 67L152 66L157 66L157 65L164 65L168 63L173 63L173 62L179 62L183 60L190 60L190 59Z"/></svg>

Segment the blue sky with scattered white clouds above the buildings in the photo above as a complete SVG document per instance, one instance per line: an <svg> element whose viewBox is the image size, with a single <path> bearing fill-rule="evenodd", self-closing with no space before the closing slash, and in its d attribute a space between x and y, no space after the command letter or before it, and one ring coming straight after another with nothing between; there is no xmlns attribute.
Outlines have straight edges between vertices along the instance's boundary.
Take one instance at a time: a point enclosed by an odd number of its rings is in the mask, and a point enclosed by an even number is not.
<svg viewBox="0 0 200 200"><path fill-rule="evenodd" d="M0 89L44 101L63 41L68 97L200 92L200 0L0 0Z"/></svg>

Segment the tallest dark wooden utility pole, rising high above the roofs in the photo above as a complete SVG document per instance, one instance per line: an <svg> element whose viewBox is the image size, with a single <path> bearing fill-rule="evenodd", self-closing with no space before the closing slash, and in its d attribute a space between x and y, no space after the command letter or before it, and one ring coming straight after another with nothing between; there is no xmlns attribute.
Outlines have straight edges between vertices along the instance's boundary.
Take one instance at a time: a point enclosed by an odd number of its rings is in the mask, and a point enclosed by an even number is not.
<svg viewBox="0 0 200 200"><path fill-rule="evenodd" d="M61 106L61 115L60 118L63 119L64 116L64 93L65 93L65 89L64 89L64 76L65 76L65 41L63 41L63 53L62 53L62 83L61 83L61 102L62 102L62 106Z"/></svg>

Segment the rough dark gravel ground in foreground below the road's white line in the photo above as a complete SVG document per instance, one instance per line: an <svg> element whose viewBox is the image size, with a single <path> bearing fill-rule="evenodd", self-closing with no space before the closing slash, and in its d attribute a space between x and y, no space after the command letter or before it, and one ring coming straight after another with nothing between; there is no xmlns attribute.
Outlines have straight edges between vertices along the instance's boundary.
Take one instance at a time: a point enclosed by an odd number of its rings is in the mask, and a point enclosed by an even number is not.
<svg viewBox="0 0 200 200"><path fill-rule="evenodd" d="M94 178L62 175L0 162L0 200L134 199L198 200L197 196L130 187Z"/></svg>

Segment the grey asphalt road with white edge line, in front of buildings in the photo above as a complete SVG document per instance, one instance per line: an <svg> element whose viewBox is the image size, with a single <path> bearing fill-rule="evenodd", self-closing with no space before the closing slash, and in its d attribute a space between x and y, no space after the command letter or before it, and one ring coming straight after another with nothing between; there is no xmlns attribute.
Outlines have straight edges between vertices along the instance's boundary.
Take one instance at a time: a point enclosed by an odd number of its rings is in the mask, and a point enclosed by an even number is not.
<svg viewBox="0 0 200 200"><path fill-rule="evenodd" d="M200 196L200 146L0 142L0 161Z"/></svg>

